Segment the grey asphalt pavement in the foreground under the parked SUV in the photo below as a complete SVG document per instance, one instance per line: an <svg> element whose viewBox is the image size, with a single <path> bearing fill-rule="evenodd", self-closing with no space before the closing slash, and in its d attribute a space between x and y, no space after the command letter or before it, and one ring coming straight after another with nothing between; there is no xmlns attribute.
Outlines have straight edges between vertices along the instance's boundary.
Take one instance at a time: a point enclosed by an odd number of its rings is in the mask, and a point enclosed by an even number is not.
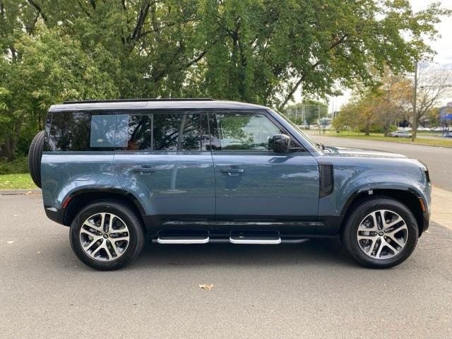
<svg viewBox="0 0 452 339"><path fill-rule="evenodd" d="M0 215L0 338L452 338L452 231L439 225L389 270L331 239L148 245L99 272L40 195L0 196Z"/></svg>

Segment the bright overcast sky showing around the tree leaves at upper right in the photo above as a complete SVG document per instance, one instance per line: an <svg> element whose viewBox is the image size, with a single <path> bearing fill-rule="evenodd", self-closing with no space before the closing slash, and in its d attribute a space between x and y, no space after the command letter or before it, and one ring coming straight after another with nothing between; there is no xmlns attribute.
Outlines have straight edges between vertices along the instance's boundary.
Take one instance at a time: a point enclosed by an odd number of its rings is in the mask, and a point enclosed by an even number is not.
<svg viewBox="0 0 452 339"><path fill-rule="evenodd" d="M413 11L421 11L434 0L410 0ZM452 8L452 0L442 0L442 6L445 8ZM452 67L452 17L442 18L441 23L436 25L441 37L433 42L429 42L430 46L437 52L434 57L434 62L441 64L441 66ZM332 97L330 100L330 112L338 110L341 105L345 104L350 97L350 91L345 91L344 95L340 97ZM297 98L299 99L299 98Z"/></svg>

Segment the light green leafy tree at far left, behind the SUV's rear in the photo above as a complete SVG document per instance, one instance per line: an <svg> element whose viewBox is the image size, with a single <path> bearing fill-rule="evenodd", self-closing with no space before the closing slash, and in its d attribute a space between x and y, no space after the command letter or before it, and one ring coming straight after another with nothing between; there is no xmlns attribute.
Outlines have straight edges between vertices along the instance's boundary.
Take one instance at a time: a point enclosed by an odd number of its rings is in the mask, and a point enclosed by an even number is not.
<svg viewBox="0 0 452 339"><path fill-rule="evenodd" d="M34 36L23 34L14 45L18 57L3 59L0 82L0 136L8 160L15 157L20 131L44 128L49 106L64 100L116 97L109 73L97 66L80 43L57 29L36 26ZM103 51L93 50L92 54ZM115 64L110 60L110 66Z"/></svg>

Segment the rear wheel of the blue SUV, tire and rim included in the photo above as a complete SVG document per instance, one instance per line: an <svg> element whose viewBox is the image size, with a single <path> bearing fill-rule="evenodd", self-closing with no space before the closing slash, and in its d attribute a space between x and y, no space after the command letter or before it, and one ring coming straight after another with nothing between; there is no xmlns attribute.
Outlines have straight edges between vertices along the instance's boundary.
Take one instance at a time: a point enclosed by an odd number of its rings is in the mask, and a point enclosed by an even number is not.
<svg viewBox="0 0 452 339"><path fill-rule="evenodd" d="M71 224L71 246L78 258L97 270L116 270L133 261L145 235L135 211L119 202L95 202Z"/></svg>

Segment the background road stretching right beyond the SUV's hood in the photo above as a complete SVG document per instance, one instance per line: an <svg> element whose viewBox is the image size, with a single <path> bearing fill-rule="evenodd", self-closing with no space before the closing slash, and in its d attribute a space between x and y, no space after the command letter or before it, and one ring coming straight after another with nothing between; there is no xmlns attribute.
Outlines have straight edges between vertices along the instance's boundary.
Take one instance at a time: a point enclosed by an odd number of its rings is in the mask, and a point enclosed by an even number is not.
<svg viewBox="0 0 452 339"><path fill-rule="evenodd" d="M419 159L429 168L435 186L452 191L452 148L319 136L316 131L309 131L309 136L323 145L384 150Z"/></svg>

